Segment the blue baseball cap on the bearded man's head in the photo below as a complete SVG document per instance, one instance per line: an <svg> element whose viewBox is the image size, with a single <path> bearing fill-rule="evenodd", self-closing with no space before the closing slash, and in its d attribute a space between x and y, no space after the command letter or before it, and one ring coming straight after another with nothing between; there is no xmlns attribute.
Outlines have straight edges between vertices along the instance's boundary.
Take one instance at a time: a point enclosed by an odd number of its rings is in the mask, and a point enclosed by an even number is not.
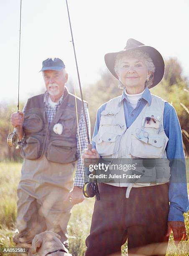
<svg viewBox="0 0 189 256"><path fill-rule="evenodd" d="M43 61L42 63L42 69L39 71L44 70L61 70L64 69L66 66L64 65L64 62L59 58L48 58Z"/></svg>

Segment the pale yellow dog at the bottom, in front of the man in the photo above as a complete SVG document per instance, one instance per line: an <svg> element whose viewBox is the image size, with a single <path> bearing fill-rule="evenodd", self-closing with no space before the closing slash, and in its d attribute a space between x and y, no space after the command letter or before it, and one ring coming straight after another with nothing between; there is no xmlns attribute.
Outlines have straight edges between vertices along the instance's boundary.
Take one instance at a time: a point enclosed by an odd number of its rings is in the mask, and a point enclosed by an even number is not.
<svg viewBox="0 0 189 256"><path fill-rule="evenodd" d="M61 236L53 231L44 231L32 240L28 256L72 256L60 241Z"/></svg>

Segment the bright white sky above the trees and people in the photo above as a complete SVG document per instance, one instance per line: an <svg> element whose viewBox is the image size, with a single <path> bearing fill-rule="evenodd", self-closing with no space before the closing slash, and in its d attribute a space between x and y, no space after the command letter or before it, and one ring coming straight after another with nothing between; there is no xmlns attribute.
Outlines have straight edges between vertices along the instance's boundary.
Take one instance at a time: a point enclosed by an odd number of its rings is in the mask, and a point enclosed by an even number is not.
<svg viewBox="0 0 189 256"><path fill-rule="evenodd" d="M188 0L68 0L82 86L100 78L104 55L128 38L176 57L189 77ZM0 0L0 102L16 102L20 0ZM20 101L44 88L41 63L59 57L78 86L66 0L22 0Z"/></svg>

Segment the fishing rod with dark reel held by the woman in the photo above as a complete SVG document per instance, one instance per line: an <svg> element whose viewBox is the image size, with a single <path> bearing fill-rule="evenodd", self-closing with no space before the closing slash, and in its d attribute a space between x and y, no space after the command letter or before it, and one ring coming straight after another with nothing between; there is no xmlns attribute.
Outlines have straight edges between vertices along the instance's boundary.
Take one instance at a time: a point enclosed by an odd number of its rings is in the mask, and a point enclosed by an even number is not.
<svg viewBox="0 0 189 256"><path fill-rule="evenodd" d="M66 0L66 6L67 6L67 11L68 11L68 18L69 18L69 27L70 27L70 31L71 31L71 36L72 36L72 44L73 44L73 48L74 48L74 57L75 57L75 63L76 63L76 68L77 68L77 77L78 77L78 81L79 81L79 90L80 90L80 95L81 95L81 100L82 100L82 109L83 109L83 114L84 114L84 122L85 122L85 128L86 128L86 132L87 132L87 149L88 150L92 150L92 144L90 142L90 137L89 137L89 130L88 130L88 126L87 126L87 118L86 118L86 114L85 114L85 110L84 110L84 101L83 101L83 94L82 94L82 87L81 87L81 82L80 82L80 77L79 77L79 69L78 69L78 65L77 65L77 57L76 57L76 51L75 51L75 46L74 46L74 37L73 37L73 33L72 33L72 25L71 25L71 20L70 20L70 16L69 16L69 8L68 8L68 2ZM87 172L87 167L85 167L85 172ZM97 179L93 179L92 182L87 182L84 184L83 187L83 194L85 197L97 197L97 200L100 200L100 193L98 190L98 183L97 183Z"/></svg>

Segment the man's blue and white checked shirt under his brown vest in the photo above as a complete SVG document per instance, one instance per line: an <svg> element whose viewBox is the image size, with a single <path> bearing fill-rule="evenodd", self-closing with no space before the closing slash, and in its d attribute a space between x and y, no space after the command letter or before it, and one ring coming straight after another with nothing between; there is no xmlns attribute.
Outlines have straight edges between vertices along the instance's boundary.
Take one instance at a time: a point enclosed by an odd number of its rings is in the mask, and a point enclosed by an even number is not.
<svg viewBox="0 0 189 256"><path fill-rule="evenodd" d="M47 114L47 118L48 118L48 121L50 124L54 118L54 115L56 114L56 111L59 109L59 106L63 102L64 94L60 97L58 103L54 106L54 108L51 107L51 105L49 104L48 98L49 98L49 93L46 91L45 95L44 95L44 104L46 106L46 114ZM23 109L23 113L24 113L24 110L25 110L25 107ZM84 110L85 110L85 114L86 114L88 130L90 132L90 123L89 123L90 120L89 120L87 103L84 103ZM83 109L81 110L81 118L79 120L79 133L78 133L78 129L77 129L77 133L76 133L76 139L77 139L76 155L77 155L78 161L77 161L77 170L75 173L75 180L74 180L74 186L83 187L84 165L83 165L83 162L81 159L81 154L80 154L79 137L80 137L80 143L81 143L81 152L83 154L84 148L87 148L87 141L85 139L85 138L87 138L87 132L86 132L86 128L85 128ZM20 141L20 146L22 146L24 142L25 142L25 138L23 137L22 140Z"/></svg>

